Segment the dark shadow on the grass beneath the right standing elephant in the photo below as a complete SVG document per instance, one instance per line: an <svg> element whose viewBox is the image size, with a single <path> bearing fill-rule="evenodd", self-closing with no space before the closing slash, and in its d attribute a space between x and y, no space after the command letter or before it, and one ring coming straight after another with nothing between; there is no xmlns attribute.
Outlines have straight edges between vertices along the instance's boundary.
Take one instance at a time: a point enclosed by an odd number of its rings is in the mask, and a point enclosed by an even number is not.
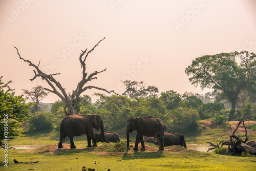
<svg viewBox="0 0 256 171"><path fill-rule="evenodd" d="M156 152L144 152L144 151L134 151L133 153L129 153L129 149L123 154L122 160L134 160L134 159L158 159L162 157L163 150L158 150Z"/></svg>

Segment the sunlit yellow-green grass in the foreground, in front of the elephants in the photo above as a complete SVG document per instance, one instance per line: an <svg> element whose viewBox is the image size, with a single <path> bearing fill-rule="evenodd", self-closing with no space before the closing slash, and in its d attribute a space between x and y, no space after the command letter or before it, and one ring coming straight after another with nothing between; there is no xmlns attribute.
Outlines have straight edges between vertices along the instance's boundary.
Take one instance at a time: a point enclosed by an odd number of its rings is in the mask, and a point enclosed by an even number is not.
<svg viewBox="0 0 256 171"><path fill-rule="evenodd" d="M8 150L8 167L1 161L1 170L82 170L82 167L95 170L254 170L256 157L224 156L214 153L198 152L181 146L158 147L146 146L146 151L125 149L125 143L101 144L98 147L82 147L57 149L55 144L46 145L30 151L19 149ZM115 152L116 147L120 148ZM4 150L0 150L4 156ZM30 164L15 164L20 162L39 161ZM97 165L94 164L97 162Z"/></svg>

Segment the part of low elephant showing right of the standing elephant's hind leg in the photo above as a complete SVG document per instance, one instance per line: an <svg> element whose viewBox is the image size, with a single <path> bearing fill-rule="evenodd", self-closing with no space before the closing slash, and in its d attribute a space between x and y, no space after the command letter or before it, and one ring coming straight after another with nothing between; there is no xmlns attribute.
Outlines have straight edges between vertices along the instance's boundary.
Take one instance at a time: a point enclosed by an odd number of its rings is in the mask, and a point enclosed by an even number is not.
<svg viewBox="0 0 256 171"><path fill-rule="evenodd" d="M180 145L187 148L186 139L183 134L166 132L164 136L164 146Z"/></svg>

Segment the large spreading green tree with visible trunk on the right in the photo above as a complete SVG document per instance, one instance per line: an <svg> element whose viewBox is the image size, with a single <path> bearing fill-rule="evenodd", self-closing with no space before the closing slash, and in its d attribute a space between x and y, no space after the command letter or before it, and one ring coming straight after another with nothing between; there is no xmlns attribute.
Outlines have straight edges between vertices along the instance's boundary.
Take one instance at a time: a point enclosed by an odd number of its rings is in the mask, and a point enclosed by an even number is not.
<svg viewBox="0 0 256 171"><path fill-rule="evenodd" d="M255 59L256 55L247 51L205 55L193 60L185 73L195 86L222 91L231 103L229 120L233 120L240 92L255 91Z"/></svg>

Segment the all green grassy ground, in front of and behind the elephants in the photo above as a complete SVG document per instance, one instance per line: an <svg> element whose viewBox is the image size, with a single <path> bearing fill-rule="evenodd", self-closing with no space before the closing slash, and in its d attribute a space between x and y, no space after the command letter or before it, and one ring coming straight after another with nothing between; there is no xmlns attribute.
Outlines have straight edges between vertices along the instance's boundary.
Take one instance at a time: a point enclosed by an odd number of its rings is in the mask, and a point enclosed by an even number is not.
<svg viewBox="0 0 256 171"><path fill-rule="evenodd" d="M221 130L222 129L222 130ZM212 129L205 127L203 133L189 135L187 143L206 143L214 137L228 138L230 132L223 127ZM124 130L119 130L122 140ZM131 139L134 139L133 133ZM255 140L255 133L248 134L250 140ZM220 138L221 139L221 138ZM215 153L198 152L181 146L168 146L159 151L157 146L146 144L146 151L127 150L125 142L98 143L97 147L87 148L86 136L75 138L77 149L70 149L69 144L63 144L63 149L57 148L58 132L34 133L27 137L16 137L9 145L46 144L36 149L8 149L8 167L4 166L4 149L0 149L0 170L82 170L82 167L95 170L255 170L256 156L225 156ZM134 143L131 143L134 145ZM140 148L140 144L139 144ZM38 163L15 164L20 162L38 161ZM96 161L97 165L94 164ZM88 170L88 169L87 169Z"/></svg>

